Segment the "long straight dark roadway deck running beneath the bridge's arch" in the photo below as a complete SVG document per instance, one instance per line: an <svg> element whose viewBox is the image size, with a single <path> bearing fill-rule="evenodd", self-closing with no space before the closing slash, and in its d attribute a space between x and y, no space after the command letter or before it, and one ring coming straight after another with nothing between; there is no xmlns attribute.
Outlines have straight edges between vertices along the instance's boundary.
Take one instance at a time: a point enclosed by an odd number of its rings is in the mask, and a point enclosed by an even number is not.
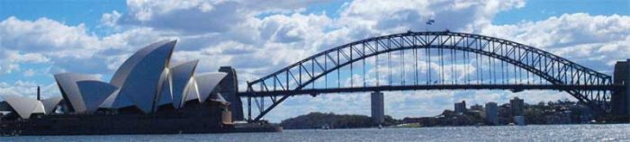
<svg viewBox="0 0 630 142"><path fill-rule="evenodd" d="M266 97L284 95L317 95L320 93L365 93L384 91L415 91L415 90L511 90L520 92L523 90L582 90L582 91L609 91L623 89L623 85L570 85L570 84L419 84L419 85L381 85L381 86L357 86L343 88L314 88L288 91L267 91L238 93L239 97Z"/></svg>

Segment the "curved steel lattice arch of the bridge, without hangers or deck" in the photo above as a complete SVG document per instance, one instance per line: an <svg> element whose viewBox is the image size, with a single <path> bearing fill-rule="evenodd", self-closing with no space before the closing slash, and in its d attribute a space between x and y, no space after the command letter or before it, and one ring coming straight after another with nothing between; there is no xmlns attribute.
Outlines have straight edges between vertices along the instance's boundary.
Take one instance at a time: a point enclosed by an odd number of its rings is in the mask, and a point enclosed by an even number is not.
<svg viewBox="0 0 630 142"><path fill-rule="evenodd" d="M405 49L455 49L500 59L500 61L523 68L534 75L544 78L551 84L558 86L557 90L570 93L580 102L588 104L591 109L599 113L608 111L608 100L615 88L609 87L613 86L610 75L599 73L589 67L583 67L545 50L536 49L514 41L462 32L408 31L357 40L320 52L310 58L302 59L289 67L276 71L274 74L266 75L247 83L247 93L241 93L241 96L247 96L250 100L256 96L263 97L263 95L259 95L262 93L278 93L268 96L273 102L269 107L264 108L264 104L258 104L260 114L255 120L260 120L268 111L274 109L280 102L284 102L289 96L297 94L296 92L309 93L303 92L303 88L320 79L321 76L328 75L341 67L365 58ZM354 57L353 52L358 56ZM330 68L322 67L318 58L329 59L335 66ZM311 72L305 66L307 63L311 63ZM315 71L315 65L318 65L321 70L319 74ZM285 78L281 79L279 76L285 76ZM269 89L270 87L267 86L266 82L273 82L274 87ZM291 84L295 85L292 87ZM254 86L257 85L260 87L255 89ZM593 86L603 87L594 87L593 89ZM361 88L358 89L360 90ZM366 89L365 91L371 90ZM329 93L326 91L321 92ZM276 96L282 97L278 99ZM248 105L251 105L250 103L248 101ZM251 112L249 112L249 115L251 115Z"/></svg>

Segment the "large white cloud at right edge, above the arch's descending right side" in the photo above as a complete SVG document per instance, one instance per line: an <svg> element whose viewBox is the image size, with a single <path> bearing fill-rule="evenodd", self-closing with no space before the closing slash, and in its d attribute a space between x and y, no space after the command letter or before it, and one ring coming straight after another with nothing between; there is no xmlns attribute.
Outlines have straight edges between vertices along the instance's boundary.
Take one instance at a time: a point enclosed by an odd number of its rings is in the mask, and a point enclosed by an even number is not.
<svg viewBox="0 0 630 142"><path fill-rule="evenodd" d="M565 13L544 21L489 25L482 34L515 40L560 57L612 73L614 63L630 57L630 16Z"/></svg>

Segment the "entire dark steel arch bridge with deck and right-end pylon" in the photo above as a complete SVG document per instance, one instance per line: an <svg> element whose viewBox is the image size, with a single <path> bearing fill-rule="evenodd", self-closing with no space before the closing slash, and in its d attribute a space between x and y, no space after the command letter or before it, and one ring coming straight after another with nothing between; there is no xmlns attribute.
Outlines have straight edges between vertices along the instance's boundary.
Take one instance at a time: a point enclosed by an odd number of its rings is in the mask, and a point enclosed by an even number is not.
<svg viewBox="0 0 630 142"><path fill-rule="evenodd" d="M510 40L408 31L322 51L247 82L238 96L247 99L247 120L253 121L295 95L420 90L555 90L599 115L627 115L628 67L617 62L613 78Z"/></svg>

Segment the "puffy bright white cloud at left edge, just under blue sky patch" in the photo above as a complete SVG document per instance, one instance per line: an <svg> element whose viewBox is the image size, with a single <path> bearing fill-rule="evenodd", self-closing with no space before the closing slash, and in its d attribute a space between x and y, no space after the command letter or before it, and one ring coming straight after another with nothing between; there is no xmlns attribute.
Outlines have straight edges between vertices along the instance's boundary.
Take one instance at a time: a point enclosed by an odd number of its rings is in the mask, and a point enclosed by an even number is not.
<svg viewBox="0 0 630 142"><path fill-rule="evenodd" d="M75 49L80 52L71 56L85 56L92 53L92 49L100 48L98 39L87 32L85 25L67 26L47 18L31 22L9 17L0 22L0 35L3 49L23 52L46 53Z"/></svg>

